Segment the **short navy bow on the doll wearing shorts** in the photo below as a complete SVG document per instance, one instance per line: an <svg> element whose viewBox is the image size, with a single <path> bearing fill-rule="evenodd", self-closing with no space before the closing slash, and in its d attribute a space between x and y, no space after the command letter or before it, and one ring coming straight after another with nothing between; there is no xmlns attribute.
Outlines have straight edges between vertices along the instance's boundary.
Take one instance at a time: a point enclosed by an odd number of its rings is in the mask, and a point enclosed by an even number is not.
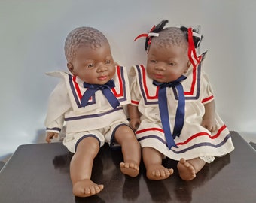
<svg viewBox="0 0 256 203"><path fill-rule="evenodd" d="M84 92L84 95L81 98L81 105L83 107L87 105L90 97L93 96L98 90L102 91L103 95L105 95L105 98L108 99L108 102L112 108L117 108L117 106L120 105L120 102L110 90L114 88L114 80L109 80L108 83L105 83L104 85L84 83L84 88L87 88L87 90Z"/></svg>

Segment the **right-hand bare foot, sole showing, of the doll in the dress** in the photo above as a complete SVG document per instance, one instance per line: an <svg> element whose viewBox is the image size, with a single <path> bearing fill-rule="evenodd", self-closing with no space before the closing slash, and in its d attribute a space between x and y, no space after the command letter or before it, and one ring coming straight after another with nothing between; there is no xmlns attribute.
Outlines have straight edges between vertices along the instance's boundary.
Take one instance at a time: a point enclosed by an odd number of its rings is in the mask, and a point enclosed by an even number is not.
<svg viewBox="0 0 256 203"><path fill-rule="evenodd" d="M182 180L193 180L196 177L194 166L183 158L178 162L177 168Z"/></svg>

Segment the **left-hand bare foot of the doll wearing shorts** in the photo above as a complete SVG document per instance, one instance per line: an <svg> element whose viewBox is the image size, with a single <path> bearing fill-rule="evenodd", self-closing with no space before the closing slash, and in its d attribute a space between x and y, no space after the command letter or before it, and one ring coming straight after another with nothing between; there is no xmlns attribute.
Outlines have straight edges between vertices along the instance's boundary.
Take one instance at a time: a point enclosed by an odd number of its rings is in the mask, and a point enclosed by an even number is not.
<svg viewBox="0 0 256 203"><path fill-rule="evenodd" d="M103 185L93 183L91 180L80 180L73 185L73 194L78 197L89 197L102 191Z"/></svg>

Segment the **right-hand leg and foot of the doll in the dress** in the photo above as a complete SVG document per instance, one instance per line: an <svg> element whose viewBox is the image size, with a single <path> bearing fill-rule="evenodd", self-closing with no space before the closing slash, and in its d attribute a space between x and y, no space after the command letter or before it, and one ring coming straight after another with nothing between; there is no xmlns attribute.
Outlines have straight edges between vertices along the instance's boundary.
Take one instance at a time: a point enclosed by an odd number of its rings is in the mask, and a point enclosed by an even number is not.
<svg viewBox="0 0 256 203"><path fill-rule="evenodd" d="M206 162L200 158L189 160L182 158L177 165L179 176L182 180L193 180L197 172L199 172L205 164Z"/></svg>

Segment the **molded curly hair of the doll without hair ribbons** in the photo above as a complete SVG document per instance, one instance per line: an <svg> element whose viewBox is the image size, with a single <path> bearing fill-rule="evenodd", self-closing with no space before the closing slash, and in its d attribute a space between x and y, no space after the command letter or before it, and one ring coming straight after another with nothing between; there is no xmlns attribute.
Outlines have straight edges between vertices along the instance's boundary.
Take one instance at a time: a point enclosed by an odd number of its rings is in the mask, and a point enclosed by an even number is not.
<svg viewBox="0 0 256 203"><path fill-rule="evenodd" d="M72 62L79 47L96 48L106 42L108 43L107 38L99 30L92 27L78 27L69 32L66 38L64 47L66 59Z"/></svg>

